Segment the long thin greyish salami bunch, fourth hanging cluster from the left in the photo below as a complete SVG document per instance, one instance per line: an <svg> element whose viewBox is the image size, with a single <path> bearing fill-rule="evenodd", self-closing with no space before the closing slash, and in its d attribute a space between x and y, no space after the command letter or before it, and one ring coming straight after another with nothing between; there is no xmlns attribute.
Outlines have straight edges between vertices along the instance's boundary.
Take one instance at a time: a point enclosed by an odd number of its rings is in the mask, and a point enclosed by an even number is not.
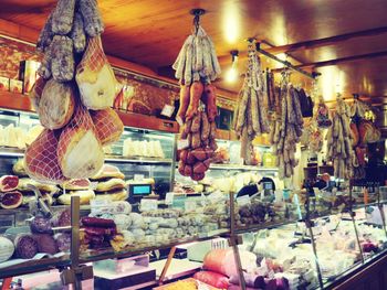
<svg viewBox="0 0 387 290"><path fill-rule="evenodd" d="M280 179L291 178L299 161L295 159L296 144L303 132L300 98L292 84L284 76L281 86L281 108L272 122L270 141L276 155Z"/></svg>

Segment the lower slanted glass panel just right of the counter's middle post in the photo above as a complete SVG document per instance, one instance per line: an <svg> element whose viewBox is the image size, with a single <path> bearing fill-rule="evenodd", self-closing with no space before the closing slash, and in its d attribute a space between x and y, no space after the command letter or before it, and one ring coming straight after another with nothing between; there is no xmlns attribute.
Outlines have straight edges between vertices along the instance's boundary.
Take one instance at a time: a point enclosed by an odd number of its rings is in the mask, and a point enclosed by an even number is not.
<svg viewBox="0 0 387 290"><path fill-rule="evenodd" d="M257 277L255 281L262 280L260 289L270 284L284 286L284 289L318 287L311 240L300 234L299 227L293 223L242 235L240 254L243 256L250 251L257 255L257 264L250 265L245 271L248 276Z"/></svg>

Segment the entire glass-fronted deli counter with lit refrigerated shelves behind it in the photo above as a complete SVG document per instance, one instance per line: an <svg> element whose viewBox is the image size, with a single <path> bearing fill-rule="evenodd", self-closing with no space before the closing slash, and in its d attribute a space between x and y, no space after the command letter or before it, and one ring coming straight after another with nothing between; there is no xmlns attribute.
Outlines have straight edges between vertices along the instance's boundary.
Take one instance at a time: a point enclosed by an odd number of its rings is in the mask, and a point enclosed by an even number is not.
<svg viewBox="0 0 387 290"><path fill-rule="evenodd" d="M116 289L128 275L142 276L139 286L167 288L194 273L219 288L325 289L385 257L384 186L365 193L336 182L311 195L274 189L265 180L255 193L243 194L263 176L276 187L283 184L275 167L231 158L211 165L205 180L188 182L176 169L175 132L125 128L121 140L104 149L106 164L98 174L60 187L28 180L23 170L22 149L39 129L36 116L3 110L1 123L8 131L1 174L18 176L13 192L22 196L20 203L12 203L17 196L1 204L3 283L59 269L56 279L77 287L94 271L94 283ZM142 142L135 147L143 151L135 152L134 142ZM239 143L218 142L227 151ZM266 146L257 149L270 154ZM165 251L158 273L151 268L157 261L144 256L155 250ZM195 262L195 270L168 276L177 260Z"/></svg>

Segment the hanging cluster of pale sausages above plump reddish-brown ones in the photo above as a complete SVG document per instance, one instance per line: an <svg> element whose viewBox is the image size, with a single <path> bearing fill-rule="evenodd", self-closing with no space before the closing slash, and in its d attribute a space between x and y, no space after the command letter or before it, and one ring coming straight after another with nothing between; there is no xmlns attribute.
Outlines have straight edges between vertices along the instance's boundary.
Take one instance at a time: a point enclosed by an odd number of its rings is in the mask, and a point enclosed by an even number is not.
<svg viewBox="0 0 387 290"><path fill-rule="evenodd" d="M172 66L180 80L179 172L199 181L212 162L216 143L217 95L210 84L220 74L211 39L196 22L194 33L184 43Z"/></svg>

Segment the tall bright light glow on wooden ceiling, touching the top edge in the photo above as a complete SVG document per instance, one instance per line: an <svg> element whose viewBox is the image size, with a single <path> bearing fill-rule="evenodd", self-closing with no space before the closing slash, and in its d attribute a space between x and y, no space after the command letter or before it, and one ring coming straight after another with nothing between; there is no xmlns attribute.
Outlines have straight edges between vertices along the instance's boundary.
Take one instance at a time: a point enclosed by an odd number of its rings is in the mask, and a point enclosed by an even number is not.
<svg viewBox="0 0 387 290"><path fill-rule="evenodd" d="M239 7L233 1L224 3L223 11L223 34L228 43L237 43L240 36Z"/></svg>

